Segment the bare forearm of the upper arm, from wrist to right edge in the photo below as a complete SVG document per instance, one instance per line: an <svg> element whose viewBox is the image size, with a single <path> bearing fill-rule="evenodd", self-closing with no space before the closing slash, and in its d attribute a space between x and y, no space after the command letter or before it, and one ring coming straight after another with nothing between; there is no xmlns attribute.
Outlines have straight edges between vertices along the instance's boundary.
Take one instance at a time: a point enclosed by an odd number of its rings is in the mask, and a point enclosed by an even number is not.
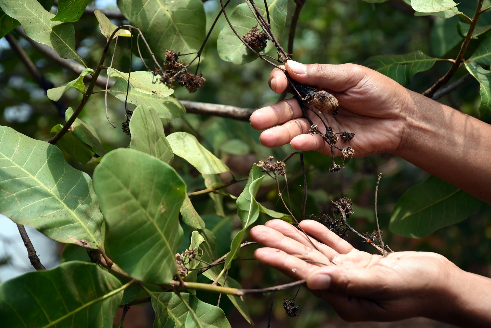
<svg viewBox="0 0 491 328"><path fill-rule="evenodd" d="M394 154L491 203L491 125L412 91L403 114Z"/></svg>

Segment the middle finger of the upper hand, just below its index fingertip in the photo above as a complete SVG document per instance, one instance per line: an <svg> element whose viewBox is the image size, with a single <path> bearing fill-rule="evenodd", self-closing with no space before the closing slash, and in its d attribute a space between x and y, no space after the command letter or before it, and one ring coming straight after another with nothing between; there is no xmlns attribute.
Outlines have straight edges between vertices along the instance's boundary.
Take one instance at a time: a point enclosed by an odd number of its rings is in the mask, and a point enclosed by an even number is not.
<svg viewBox="0 0 491 328"><path fill-rule="evenodd" d="M263 130L302 116L299 103L292 98L254 111L249 121L254 129Z"/></svg>

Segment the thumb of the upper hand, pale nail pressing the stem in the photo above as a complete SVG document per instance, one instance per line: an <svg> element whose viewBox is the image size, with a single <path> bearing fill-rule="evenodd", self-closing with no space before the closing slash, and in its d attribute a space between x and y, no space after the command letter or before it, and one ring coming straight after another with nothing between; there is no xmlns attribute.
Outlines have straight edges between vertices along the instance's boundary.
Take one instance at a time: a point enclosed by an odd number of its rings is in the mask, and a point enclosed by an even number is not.
<svg viewBox="0 0 491 328"><path fill-rule="evenodd" d="M297 82L335 92L343 92L354 87L370 71L366 67L355 64L305 65L294 60L288 60L285 68L290 77Z"/></svg>

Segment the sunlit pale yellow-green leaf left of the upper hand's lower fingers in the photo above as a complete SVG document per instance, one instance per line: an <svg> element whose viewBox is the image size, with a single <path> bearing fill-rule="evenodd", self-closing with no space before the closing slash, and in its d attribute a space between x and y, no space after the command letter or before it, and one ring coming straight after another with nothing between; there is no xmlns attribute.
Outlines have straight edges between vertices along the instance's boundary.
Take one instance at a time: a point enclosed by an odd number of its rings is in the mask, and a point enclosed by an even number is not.
<svg viewBox="0 0 491 328"><path fill-rule="evenodd" d="M184 158L202 174L228 172L223 164L198 139L186 132L174 132L167 137L174 155Z"/></svg>

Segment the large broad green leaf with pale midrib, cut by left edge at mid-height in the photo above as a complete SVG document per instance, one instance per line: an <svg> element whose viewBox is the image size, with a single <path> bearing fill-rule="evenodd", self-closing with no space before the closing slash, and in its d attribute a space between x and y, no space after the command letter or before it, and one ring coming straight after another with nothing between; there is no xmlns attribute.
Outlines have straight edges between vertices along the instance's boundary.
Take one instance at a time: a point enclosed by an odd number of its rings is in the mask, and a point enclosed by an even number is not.
<svg viewBox="0 0 491 328"><path fill-rule="evenodd" d="M105 224L90 177L52 144L0 126L0 213L66 244L104 245Z"/></svg>

